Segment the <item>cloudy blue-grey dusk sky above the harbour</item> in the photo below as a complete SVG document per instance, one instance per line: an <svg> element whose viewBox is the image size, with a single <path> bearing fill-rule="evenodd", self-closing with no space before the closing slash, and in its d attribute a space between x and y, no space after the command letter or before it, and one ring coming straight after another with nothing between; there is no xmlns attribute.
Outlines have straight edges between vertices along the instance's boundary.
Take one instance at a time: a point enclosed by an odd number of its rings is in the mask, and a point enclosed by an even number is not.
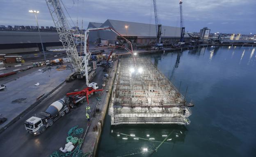
<svg viewBox="0 0 256 157"><path fill-rule="evenodd" d="M153 0L62 0L72 20L81 28L89 22L107 19L155 23ZM180 27L179 0L156 0L162 25ZM39 26L54 26L45 0L0 0L0 25L35 26L28 10L39 10ZM73 4L74 2L74 4ZM199 32L203 27L211 33L256 33L256 0L183 0L186 31ZM66 15L68 20L69 16ZM70 22L72 24L72 22ZM73 24L72 24L73 26Z"/></svg>

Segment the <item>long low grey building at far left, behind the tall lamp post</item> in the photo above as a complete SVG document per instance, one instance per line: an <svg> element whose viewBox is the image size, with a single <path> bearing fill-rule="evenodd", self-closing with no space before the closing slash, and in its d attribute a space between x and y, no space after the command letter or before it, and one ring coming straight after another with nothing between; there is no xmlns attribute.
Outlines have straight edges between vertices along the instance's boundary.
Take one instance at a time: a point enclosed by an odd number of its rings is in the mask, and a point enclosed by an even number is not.
<svg viewBox="0 0 256 157"><path fill-rule="evenodd" d="M57 32L42 31L41 38L46 51L63 48ZM40 51L42 51L42 46L38 31L0 31L0 53L15 54Z"/></svg>

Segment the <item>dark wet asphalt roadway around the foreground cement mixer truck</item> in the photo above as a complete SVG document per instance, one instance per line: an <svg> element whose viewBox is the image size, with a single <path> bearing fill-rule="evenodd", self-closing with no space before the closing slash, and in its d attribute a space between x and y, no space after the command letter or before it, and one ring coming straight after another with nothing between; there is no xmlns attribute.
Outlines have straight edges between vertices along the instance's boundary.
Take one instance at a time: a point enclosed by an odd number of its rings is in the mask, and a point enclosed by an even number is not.
<svg viewBox="0 0 256 157"><path fill-rule="evenodd" d="M103 72L102 67L97 67L96 71L97 74L92 82L97 82L99 88L102 88L102 78L105 72ZM71 127L78 125L79 128L86 129L85 107L87 102L84 102L78 108L72 109L64 117L59 118L53 126L46 129L41 135L34 136L27 133L23 124L32 115L45 111L51 103L59 100L66 93L73 92L75 89L82 90L83 88L86 88L85 80L64 83L24 117L7 128L0 134L0 152L2 155L5 157L48 157L53 151L65 146L67 132ZM92 95L89 98L91 108L96 105L96 97L98 95Z"/></svg>

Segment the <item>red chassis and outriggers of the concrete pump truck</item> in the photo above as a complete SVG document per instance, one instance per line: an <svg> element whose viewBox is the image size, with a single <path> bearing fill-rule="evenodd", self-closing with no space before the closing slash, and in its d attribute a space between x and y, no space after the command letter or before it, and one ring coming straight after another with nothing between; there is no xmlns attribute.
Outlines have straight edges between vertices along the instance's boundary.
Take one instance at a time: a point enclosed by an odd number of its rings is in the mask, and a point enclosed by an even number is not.
<svg viewBox="0 0 256 157"><path fill-rule="evenodd" d="M98 85L97 85L97 87L98 87ZM73 98L74 104L77 104L78 102L80 104L82 104L85 100L87 100L87 103L89 105L88 98L91 95L97 94L98 91L103 91L103 89L94 89L92 86L92 87L87 87L87 88L83 89L82 91L66 93L66 95L68 97L73 95L72 98Z"/></svg>

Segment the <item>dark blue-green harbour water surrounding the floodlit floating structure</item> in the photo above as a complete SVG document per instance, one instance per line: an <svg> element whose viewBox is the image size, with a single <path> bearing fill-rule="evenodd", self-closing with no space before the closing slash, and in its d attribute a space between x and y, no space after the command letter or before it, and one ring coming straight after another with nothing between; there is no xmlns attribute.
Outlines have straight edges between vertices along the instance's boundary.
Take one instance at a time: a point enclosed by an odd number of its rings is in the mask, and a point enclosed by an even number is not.
<svg viewBox="0 0 256 157"><path fill-rule="evenodd" d="M208 46L145 55L195 104L191 124L110 126L106 115L97 156L256 157L255 49Z"/></svg>

